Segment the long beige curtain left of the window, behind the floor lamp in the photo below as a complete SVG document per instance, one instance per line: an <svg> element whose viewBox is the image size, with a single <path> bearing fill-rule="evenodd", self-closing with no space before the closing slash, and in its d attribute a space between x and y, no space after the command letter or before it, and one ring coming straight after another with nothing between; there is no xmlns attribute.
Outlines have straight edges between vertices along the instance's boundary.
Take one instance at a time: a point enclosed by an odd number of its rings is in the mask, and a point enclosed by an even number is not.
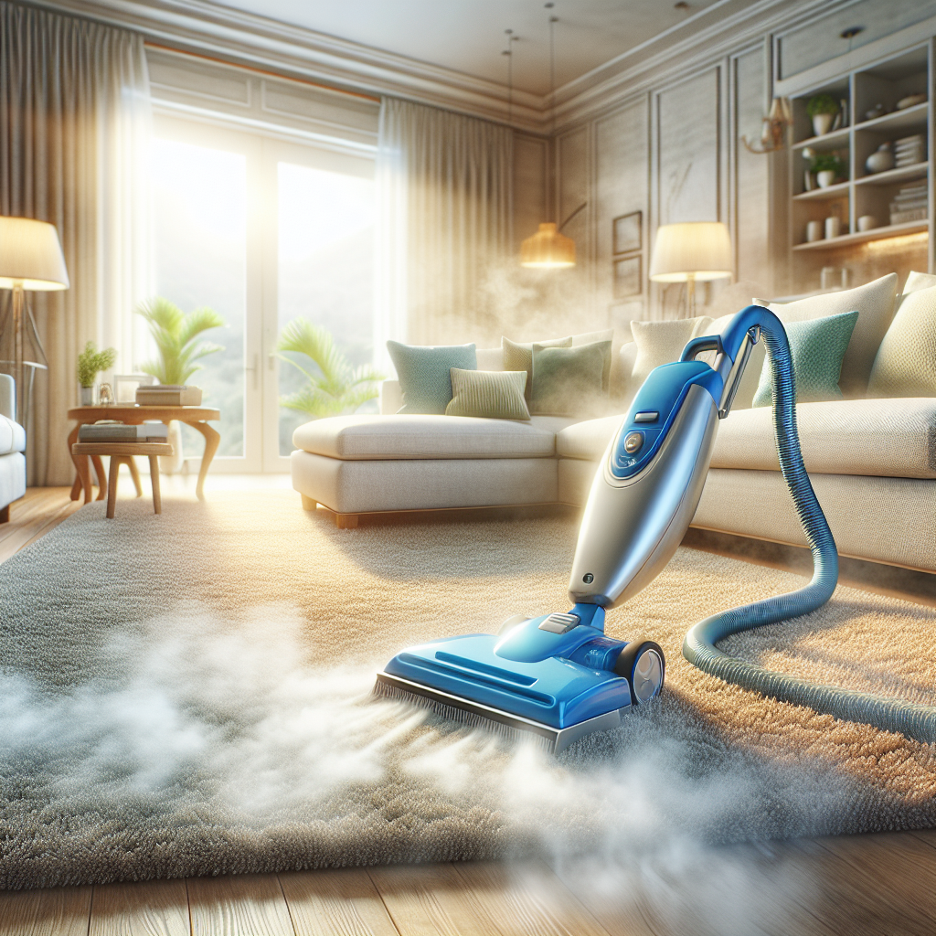
<svg viewBox="0 0 936 936"><path fill-rule="evenodd" d="M139 360L149 293L149 79L141 37L0 0L0 214L58 228L71 288L27 294L49 358L27 427L28 483L70 484L66 411L86 341ZM9 327L3 336L3 358Z"/></svg>

